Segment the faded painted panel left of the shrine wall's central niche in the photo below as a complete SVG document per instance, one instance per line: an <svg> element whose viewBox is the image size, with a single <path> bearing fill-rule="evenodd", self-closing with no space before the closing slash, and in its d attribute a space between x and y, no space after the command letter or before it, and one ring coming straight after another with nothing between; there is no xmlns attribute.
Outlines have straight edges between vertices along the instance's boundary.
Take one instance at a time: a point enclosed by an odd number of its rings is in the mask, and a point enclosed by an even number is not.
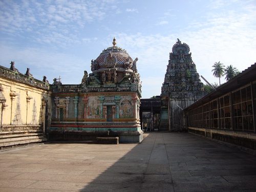
<svg viewBox="0 0 256 192"><path fill-rule="evenodd" d="M99 118L99 99L98 97L91 96L89 97L88 104L87 104L87 118Z"/></svg>

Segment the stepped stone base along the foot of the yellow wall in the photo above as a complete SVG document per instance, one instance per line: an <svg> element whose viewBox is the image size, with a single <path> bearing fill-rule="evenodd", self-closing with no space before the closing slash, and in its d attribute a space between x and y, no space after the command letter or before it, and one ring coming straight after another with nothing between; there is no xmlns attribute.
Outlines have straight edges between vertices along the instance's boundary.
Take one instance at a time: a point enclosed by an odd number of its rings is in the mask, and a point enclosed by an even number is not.
<svg viewBox="0 0 256 192"><path fill-rule="evenodd" d="M1 150L46 140L41 130L0 131Z"/></svg>

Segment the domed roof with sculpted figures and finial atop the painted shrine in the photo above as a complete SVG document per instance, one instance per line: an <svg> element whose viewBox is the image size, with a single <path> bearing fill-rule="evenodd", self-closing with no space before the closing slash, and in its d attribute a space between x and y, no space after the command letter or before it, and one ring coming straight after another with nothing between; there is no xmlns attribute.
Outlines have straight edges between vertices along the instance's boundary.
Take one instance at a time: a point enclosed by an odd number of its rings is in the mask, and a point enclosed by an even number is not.
<svg viewBox="0 0 256 192"><path fill-rule="evenodd" d="M116 46L106 48L91 61L91 71L84 71L82 86L84 92L138 91L141 94L140 75L137 71L138 58ZM96 86L96 87L95 87Z"/></svg>

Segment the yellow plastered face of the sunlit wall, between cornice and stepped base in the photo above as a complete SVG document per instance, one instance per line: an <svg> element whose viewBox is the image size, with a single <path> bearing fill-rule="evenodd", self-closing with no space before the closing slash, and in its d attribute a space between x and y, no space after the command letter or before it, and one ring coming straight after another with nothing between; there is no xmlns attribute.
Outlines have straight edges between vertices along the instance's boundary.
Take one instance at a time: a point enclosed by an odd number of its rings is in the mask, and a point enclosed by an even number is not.
<svg viewBox="0 0 256 192"><path fill-rule="evenodd" d="M50 101L49 91L4 77L0 77L0 84L3 88L2 97L6 99L5 105L8 105L3 109L2 125L24 125L26 122L27 124L41 124L42 97ZM18 105L20 114L17 110Z"/></svg>

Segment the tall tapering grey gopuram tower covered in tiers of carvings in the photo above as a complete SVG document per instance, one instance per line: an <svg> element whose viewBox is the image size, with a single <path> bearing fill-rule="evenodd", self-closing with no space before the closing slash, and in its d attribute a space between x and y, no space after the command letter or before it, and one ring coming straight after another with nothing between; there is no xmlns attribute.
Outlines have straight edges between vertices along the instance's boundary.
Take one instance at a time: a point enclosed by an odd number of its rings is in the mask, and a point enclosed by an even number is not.
<svg viewBox="0 0 256 192"><path fill-rule="evenodd" d="M169 55L161 93L160 131L185 129L183 109L205 95L189 46L178 39Z"/></svg>

